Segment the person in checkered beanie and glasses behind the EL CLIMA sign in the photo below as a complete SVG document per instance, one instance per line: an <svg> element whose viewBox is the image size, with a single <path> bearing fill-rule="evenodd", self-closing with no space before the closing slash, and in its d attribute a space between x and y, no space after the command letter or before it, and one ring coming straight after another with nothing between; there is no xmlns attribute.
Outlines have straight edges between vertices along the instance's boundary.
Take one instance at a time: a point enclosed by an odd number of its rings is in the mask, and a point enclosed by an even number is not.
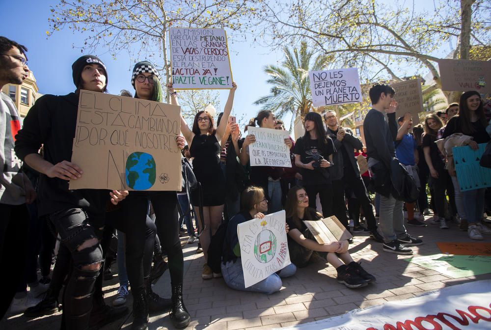
<svg viewBox="0 0 491 330"><path fill-rule="evenodd" d="M162 102L162 84L154 65L148 61L136 63L131 84L135 98ZM184 147L184 138L176 138L177 147ZM148 202L155 211L155 225L163 249L167 252L172 299L163 299L152 291L150 281L151 258L145 261L144 237ZM171 307L170 318L176 328L186 328L191 317L183 302L184 257L179 239L177 192L138 191L131 192L122 203L123 219L118 229L125 232L126 270L133 294L132 330L146 330L149 313L157 313ZM150 252L151 254L151 252ZM143 262L142 262L143 260Z"/></svg>

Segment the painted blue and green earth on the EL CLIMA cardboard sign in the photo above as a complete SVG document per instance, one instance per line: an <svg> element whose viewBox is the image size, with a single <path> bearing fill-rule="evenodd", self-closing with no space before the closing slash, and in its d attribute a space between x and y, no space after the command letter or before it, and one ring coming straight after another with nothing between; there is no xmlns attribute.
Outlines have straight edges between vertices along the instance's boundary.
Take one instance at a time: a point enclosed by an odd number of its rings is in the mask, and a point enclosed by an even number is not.
<svg viewBox="0 0 491 330"><path fill-rule="evenodd" d="M134 190L150 189L156 178L155 160L145 152L134 152L126 160L126 184Z"/></svg>

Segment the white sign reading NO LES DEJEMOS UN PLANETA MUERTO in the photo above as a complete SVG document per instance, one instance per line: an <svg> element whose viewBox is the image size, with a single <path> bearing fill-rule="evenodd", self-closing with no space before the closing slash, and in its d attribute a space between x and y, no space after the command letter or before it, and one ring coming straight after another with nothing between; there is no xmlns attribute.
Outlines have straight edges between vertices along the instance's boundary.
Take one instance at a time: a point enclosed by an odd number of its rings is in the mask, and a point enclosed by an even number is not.
<svg viewBox="0 0 491 330"><path fill-rule="evenodd" d="M314 107L362 101L357 68L310 71L308 75Z"/></svg>

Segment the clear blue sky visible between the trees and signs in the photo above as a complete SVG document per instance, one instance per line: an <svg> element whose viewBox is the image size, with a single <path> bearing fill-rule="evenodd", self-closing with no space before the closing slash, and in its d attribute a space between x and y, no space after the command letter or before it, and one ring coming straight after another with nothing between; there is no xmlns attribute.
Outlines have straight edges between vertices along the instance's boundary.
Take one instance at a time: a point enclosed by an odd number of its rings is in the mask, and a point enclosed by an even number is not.
<svg viewBox="0 0 491 330"><path fill-rule="evenodd" d="M57 1L2 1L0 20L1 35L24 44L27 49L28 65L36 77L39 92L42 94L64 95L75 89L72 81L71 65L82 55L80 49L72 45L83 44L83 36L73 34L68 28L47 37L48 18L51 17L50 4ZM418 6L433 6L428 1L417 0ZM5 13L14 13L5 15ZM239 88L236 92L233 113L240 118L254 117L259 110L252 102L260 96L267 95L270 86L266 84L267 75L262 67L275 64L283 56L278 49L267 49L251 45L250 41L229 44L230 61L234 80ZM446 55L447 46L438 54ZM109 92L118 94L121 89L134 92L130 83L134 61L127 54L120 54L113 60L106 50L96 52L108 67ZM106 53L106 54L105 54ZM143 58L142 58L143 59ZM220 91L220 104L225 104L228 91ZM221 109L218 109L221 110ZM285 118L287 127L289 118Z"/></svg>

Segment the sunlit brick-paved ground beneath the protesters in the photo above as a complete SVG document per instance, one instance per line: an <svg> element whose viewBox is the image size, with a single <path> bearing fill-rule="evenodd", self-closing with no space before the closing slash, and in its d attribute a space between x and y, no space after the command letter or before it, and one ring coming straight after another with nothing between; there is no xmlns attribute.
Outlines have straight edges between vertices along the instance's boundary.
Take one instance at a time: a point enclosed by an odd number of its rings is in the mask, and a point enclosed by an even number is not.
<svg viewBox="0 0 491 330"><path fill-rule="evenodd" d="M426 217L427 219L429 217ZM450 223L449 230L438 229L437 225L407 229L413 236L420 237L425 244L413 247L413 256L441 253L436 242L476 242L466 232ZM491 236L485 237L490 242ZM465 283L475 279L489 279L491 274L451 278L404 261L411 256L401 256L382 251L382 245L368 236L355 236L350 253L355 261L377 277L377 282L360 289L348 289L335 280L336 270L321 259L297 274L283 280L280 292L267 296L258 293L241 292L228 288L223 279L203 280L201 270L203 254L195 254L196 244L185 245L184 302L191 314L187 329L259 330L287 327L325 319L343 314L356 308L383 304L387 301L405 300L427 291L445 286ZM117 290L117 277L105 282L104 291L108 302ZM168 272L154 286L154 291L170 297ZM127 302L131 306L131 299ZM39 319L27 319L22 315L10 316L0 322L1 329L57 329L60 314L56 313ZM105 327L105 330L129 330L131 316ZM150 330L173 329L168 313L151 316Z"/></svg>

